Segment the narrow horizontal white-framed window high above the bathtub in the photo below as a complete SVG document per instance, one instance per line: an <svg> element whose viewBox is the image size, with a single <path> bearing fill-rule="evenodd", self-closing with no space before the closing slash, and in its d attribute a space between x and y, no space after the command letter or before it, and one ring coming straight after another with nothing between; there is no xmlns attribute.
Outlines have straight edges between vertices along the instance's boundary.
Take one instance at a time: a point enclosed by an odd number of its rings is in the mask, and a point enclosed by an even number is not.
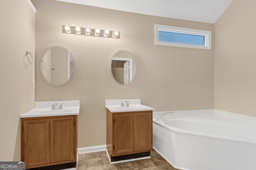
<svg viewBox="0 0 256 170"><path fill-rule="evenodd" d="M211 31L155 24L155 45L211 49Z"/></svg>

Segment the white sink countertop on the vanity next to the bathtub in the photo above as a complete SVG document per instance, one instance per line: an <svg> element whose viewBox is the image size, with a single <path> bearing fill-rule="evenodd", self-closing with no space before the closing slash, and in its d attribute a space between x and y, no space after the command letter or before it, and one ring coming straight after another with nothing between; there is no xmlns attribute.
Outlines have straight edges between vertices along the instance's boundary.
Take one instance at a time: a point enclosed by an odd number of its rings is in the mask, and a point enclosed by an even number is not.
<svg viewBox="0 0 256 170"><path fill-rule="evenodd" d="M129 102L129 106L121 106L121 102ZM112 113L128 112L128 111L148 111L154 108L140 104L140 99L118 99L106 100L105 107Z"/></svg>

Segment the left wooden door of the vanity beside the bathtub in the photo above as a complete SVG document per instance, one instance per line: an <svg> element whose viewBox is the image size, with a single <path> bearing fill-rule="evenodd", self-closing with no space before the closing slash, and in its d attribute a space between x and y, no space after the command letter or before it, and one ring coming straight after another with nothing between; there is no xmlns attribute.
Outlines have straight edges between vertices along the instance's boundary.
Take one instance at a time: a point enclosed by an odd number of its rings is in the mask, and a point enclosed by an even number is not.
<svg viewBox="0 0 256 170"><path fill-rule="evenodd" d="M114 154L118 156L133 152L133 113L114 115Z"/></svg>

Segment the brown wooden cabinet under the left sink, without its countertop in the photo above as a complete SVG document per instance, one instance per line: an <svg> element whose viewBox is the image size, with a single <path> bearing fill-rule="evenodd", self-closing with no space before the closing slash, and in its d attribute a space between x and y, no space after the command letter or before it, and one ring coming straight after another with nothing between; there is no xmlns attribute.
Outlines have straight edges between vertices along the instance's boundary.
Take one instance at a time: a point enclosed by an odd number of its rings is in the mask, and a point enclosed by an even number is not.
<svg viewBox="0 0 256 170"><path fill-rule="evenodd" d="M76 152L77 115L22 118L21 160L26 168L76 166Z"/></svg>

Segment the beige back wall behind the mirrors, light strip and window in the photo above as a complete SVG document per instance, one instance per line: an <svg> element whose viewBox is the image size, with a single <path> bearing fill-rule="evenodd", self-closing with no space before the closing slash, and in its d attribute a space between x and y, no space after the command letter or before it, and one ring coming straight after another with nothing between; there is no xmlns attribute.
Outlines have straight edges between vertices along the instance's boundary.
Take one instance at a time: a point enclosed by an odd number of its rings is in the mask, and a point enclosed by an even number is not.
<svg viewBox="0 0 256 170"><path fill-rule="evenodd" d="M106 99L140 98L155 111L214 107L214 25L32 0L36 7L36 101L80 100L78 147L106 145ZM154 45L154 24L212 31L212 50ZM62 33L62 25L120 31L120 39ZM67 84L51 86L40 59L52 46L69 49L75 73ZM114 53L125 49L137 61L132 84L117 84L110 73Z"/></svg>

